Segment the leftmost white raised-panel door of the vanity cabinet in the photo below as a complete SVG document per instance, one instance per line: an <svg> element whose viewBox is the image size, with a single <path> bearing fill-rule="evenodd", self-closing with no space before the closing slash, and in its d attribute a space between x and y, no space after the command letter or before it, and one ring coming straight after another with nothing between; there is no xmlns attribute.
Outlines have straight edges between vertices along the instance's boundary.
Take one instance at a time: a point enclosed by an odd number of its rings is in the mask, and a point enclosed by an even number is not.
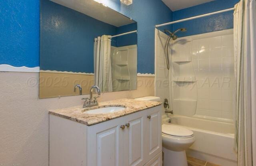
<svg viewBox="0 0 256 166"><path fill-rule="evenodd" d="M121 117L88 127L87 166L122 166L123 121Z"/></svg>

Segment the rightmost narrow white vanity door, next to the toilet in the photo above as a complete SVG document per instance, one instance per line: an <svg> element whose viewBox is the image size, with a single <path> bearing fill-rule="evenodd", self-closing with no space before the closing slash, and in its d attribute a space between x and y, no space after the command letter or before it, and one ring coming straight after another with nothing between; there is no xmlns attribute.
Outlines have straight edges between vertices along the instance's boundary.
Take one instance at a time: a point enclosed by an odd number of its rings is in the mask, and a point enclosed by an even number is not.
<svg viewBox="0 0 256 166"><path fill-rule="evenodd" d="M148 160L162 151L162 105L149 109L145 119L145 146Z"/></svg>

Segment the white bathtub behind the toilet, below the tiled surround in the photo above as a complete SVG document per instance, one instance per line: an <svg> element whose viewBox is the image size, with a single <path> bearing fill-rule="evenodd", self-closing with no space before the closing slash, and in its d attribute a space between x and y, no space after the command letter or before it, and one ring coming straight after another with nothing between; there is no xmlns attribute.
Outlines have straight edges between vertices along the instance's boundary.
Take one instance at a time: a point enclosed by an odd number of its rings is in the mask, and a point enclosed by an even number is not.
<svg viewBox="0 0 256 166"><path fill-rule="evenodd" d="M196 141L186 151L188 156L219 164L237 166L234 147L234 125L232 123L185 117L163 116L163 123L180 125L194 132Z"/></svg>

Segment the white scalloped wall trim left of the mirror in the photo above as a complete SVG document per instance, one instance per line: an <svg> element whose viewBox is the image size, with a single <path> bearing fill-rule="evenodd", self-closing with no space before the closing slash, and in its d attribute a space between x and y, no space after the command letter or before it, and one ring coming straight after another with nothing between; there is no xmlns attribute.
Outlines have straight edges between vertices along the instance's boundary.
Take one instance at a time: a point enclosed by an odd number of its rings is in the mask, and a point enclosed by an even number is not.
<svg viewBox="0 0 256 166"><path fill-rule="evenodd" d="M33 72L33 73L39 73L40 68L39 67L15 67L7 64L0 65L0 71L11 71L11 72Z"/></svg>

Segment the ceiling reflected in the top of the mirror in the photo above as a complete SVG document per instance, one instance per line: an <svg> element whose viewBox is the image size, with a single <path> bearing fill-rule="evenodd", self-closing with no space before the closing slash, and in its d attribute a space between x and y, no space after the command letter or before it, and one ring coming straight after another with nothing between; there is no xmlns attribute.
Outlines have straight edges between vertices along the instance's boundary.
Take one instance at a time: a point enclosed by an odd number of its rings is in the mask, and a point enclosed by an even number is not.
<svg viewBox="0 0 256 166"><path fill-rule="evenodd" d="M132 24L135 21L127 18L126 16L112 10L94 0L51 0L62 6L66 6L87 16L100 20L107 24L120 27Z"/></svg>

